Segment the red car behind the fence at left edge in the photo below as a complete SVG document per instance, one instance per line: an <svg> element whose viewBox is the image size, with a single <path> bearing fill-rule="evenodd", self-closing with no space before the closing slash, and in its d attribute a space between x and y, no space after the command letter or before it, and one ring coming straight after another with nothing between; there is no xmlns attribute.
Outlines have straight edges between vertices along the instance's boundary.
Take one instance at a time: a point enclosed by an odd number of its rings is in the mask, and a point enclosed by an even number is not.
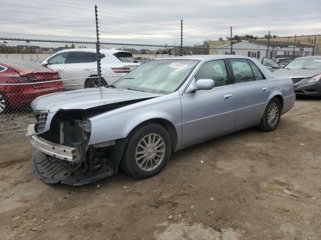
<svg viewBox="0 0 321 240"><path fill-rule="evenodd" d="M29 105L37 96L64 91L62 81L43 82L60 79L58 72L32 61L0 60L0 113L9 108ZM35 83L39 84L17 84ZM43 83L42 83L43 82Z"/></svg>

